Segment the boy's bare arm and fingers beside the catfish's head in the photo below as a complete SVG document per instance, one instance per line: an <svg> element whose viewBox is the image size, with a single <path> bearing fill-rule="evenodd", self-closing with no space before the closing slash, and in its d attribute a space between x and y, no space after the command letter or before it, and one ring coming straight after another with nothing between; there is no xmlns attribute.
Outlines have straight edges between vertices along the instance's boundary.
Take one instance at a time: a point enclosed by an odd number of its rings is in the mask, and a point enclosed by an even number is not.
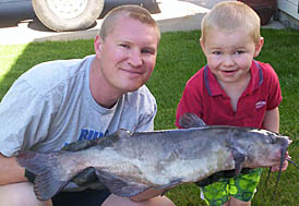
<svg viewBox="0 0 299 206"><path fill-rule="evenodd" d="M266 130L270 130L272 132L279 132L279 110L278 107L272 109L272 110L267 110L264 121L263 121L263 128ZM287 154L287 158L290 158ZM288 161L285 160L282 170L286 170L288 167ZM276 167L272 167L272 171L278 171L279 170L279 166Z"/></svg>

